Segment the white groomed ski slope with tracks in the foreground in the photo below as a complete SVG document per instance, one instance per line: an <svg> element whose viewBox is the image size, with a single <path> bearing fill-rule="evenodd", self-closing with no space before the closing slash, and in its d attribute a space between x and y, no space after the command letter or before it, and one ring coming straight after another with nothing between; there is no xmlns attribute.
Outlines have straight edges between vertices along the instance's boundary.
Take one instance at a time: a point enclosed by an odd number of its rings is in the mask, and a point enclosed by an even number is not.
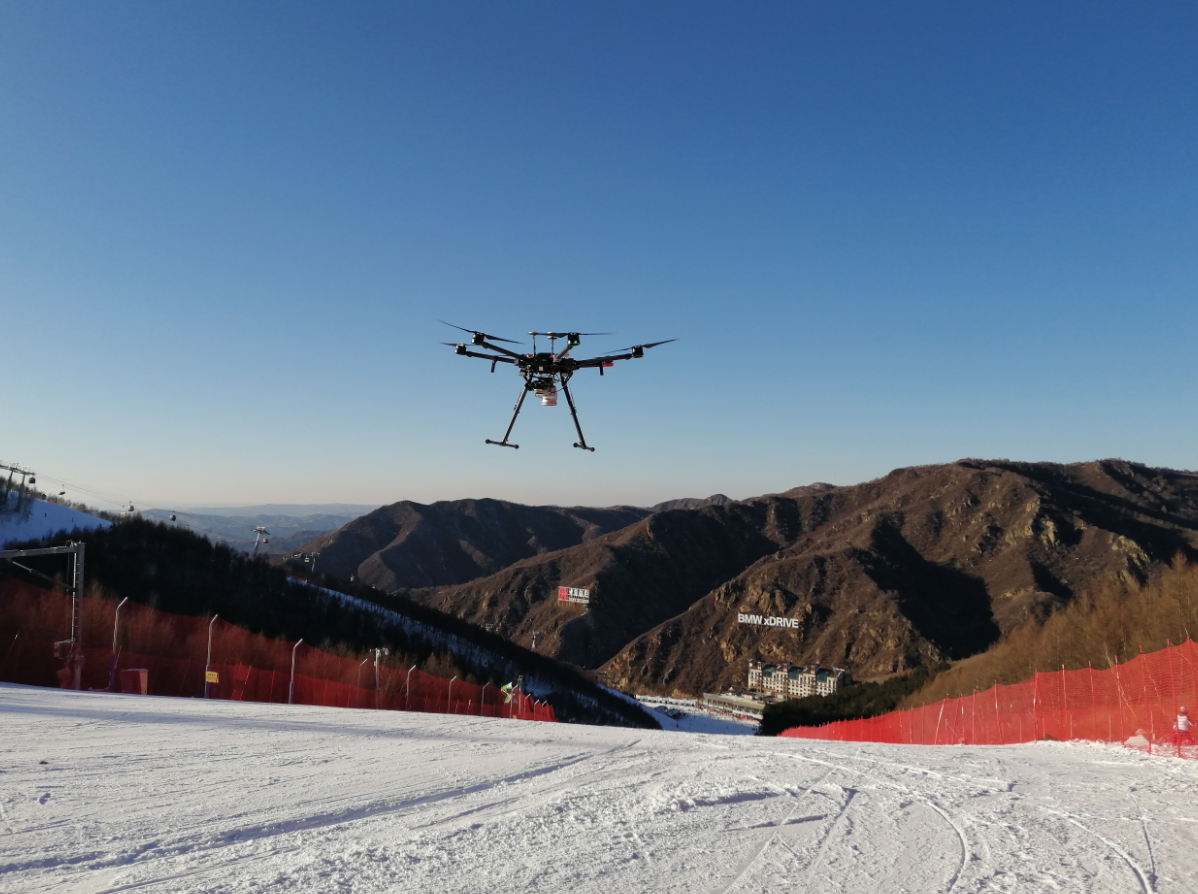
<svg viewBox="0 0 1198 894"><path fill-rule="evenodd" d="M1198 890L1198 762L0 687L0 889Z"/></svg>

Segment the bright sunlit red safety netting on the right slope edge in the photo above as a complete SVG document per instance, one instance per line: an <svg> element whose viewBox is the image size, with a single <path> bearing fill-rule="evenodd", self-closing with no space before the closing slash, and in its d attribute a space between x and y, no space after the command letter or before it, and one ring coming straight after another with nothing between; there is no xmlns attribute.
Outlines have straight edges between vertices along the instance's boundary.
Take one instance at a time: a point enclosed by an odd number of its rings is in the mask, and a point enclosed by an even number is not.
<svg viewBox="0 0 1198 894"><path fill-rule="evenodd" d="M1005 745L1039 739L1123 742L1198 757L1198 726L1175 730L1180 707L1198 718L1198 646L1186 640L1106 670L1035 673L1012 685L907 711L823 726L795 726L792 738L913 745Z"/></svg>

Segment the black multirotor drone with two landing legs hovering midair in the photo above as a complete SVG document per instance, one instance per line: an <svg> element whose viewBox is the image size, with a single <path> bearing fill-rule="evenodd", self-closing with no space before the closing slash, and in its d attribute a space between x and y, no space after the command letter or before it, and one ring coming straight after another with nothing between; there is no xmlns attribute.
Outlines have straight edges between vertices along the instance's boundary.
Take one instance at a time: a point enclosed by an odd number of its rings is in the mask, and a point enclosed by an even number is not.
<svg viewBox="0 0 1198 894"><path fill-rule="evenodd" d="M491 372L495 372L495 367L498 363L510 363L516 368L516 372L524 376L525 383L520 389L520 398L516 400L516 409L512 413L512 422L508 423L508 430L503 433L502 441L492 441L486 439L488 443L494 443L496 447L510 447L512 449L520 449L520 445L510 443L508 437L512 436L512 428L516 424L516 417L520 415L520 407L524 406L524 399L528 397L531 391L538 398L540 398L541 406L557 406L557 392L561 389L565 394L565 403L570 406L570 417L574 419L574 428L579 433L577 443L574 446L579 449L591 451L594 453L594 447L587 446L587 439L582 436L582 427L579 424L579 413L574 409L574 398L570 397L570 388L567 382L570 381L573 376L580 369L598 369L599 375L603 375L603 370L612 366L618 360L631 360L634 357L643 357L645 352L649 348L657 348L658 345L668 344L670 342L677 342L677 338L667 338L665 342L651 342L645 345L633 345L631 348L621 348L619 352L607 355L606 357L591 357L589 360L575 360L570 357L569 354L574 348L577 348L582 340L582 336L610 336L610 332L530 332L532 336L532 354L516 354L507 348L501 348L497 344L491 344L492 342L503 342L504 344L524 344L522 342L513 342L510 338L498 338L497 336L489 336L485 332L478 332L477 330L467 330L462 326L454 326L452 322L446 322L440 320L446 326L453 326L455 330L461 330L462 332L470 333L470 344L478 348L485 348L488 351L494 351L494 354L483 354L482 351L472 351L465 344L454 344L453 342L442 342L441 344L449 345L454 349L455 354L460 354L464 357L482 357L483 360L491 361ZM549 351L537 352L537 337L549 339ZM561 351L557 350L558 339L565 339L565 348Z"/></svg>

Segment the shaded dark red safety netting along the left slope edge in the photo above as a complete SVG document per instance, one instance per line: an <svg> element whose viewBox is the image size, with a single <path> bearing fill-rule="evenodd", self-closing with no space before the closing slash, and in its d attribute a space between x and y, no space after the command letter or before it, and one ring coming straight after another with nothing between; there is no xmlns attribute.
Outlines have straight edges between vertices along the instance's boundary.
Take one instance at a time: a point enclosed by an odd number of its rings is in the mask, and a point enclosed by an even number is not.
<svg viewBox="0 0 1198 894"><path fill-rule="evenodd" d="M54 644L69 632L69 596L0 581L0 681L65 684L69 672ZM375 666L373 656L343 658L134 603L117 611L115 602L84 599L83 654L83 688L91 690L121 691L123 678L135 691L127 671L145 669L150 695L557 720L551 706L519 690Z"/></svg>

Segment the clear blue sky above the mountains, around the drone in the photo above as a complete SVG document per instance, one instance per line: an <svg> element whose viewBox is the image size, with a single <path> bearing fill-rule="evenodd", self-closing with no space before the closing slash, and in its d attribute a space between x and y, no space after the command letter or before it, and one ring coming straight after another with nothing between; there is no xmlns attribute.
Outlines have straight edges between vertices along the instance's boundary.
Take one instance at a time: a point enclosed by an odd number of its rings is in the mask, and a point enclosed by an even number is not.
<svg viewBox="0 0 1198 894"><path fill-rule="evenodd" d="M0 458L158 506L1198 467L1198 6L0 2ZM678 337L528 405L455 357Z"/></svg>

